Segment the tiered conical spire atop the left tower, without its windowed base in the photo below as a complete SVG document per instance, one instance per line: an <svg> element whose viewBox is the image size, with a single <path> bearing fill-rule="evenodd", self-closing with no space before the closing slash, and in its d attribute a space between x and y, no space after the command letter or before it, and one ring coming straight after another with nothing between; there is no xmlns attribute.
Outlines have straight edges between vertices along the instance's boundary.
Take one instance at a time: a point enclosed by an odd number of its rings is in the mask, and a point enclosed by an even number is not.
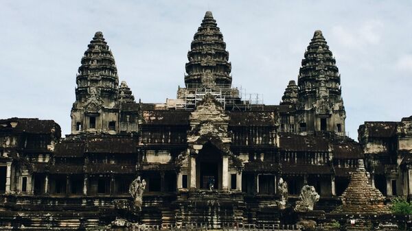
<svg viewBox="0 0 412 231"><path fill-rule="evenodd" d="M82 65L76 77L76 101L85 101L91 92L97 92L105 106L117 97L119 78L115 59L102 32L96 32L84 52Z"/></svg>

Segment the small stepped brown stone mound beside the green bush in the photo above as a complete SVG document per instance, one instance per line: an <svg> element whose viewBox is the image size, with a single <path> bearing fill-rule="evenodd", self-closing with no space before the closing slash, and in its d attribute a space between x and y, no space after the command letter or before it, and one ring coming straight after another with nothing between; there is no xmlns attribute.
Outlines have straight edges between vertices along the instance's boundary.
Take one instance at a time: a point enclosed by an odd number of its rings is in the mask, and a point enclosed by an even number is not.
<svg viewBox="0 0 412 231"><path fill-rule="evenodd" d="M389 213L384 204L385 197L369 182L363 159L358 160L356 171L352 172L350 182L341 195L342 206L335 212L348 214L376 214Z"/></svg>

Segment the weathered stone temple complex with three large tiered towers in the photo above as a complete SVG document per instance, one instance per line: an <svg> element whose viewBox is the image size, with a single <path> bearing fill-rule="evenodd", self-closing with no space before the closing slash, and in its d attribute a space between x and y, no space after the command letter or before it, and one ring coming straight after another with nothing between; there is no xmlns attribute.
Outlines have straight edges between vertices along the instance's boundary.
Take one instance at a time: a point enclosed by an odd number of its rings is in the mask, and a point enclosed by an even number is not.
<svg viewBox="0 0 412 231"><path fill-rule="evenodd" d="M288 208L306 185L320 196L311 214L325 229L352 214L389 214L392 197L412 197L412 117L365 122L359 142L345 136L341 75L321 31L302 52L279 105L244 99L206 12L185 86L176 99L148 104L120 82L96 32L76 76L71 134L61 138L54 121L0 120L0 230L107 225L121 216L115 202L133 200L137 177L139 223L149 228L296 228Z"/></svg>

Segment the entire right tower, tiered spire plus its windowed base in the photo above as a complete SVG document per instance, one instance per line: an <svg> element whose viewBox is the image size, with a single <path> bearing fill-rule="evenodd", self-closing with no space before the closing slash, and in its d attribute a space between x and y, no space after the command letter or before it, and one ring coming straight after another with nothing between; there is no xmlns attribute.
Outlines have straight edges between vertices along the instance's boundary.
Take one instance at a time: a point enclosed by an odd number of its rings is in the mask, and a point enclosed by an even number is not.
<svg viewBox="0 0 412 231"><path fill-rule="evenodd" d="M301 62L298 76L299 124L308 131L345 134L345 107L341 97L341 75L320 30Z"/></svg>

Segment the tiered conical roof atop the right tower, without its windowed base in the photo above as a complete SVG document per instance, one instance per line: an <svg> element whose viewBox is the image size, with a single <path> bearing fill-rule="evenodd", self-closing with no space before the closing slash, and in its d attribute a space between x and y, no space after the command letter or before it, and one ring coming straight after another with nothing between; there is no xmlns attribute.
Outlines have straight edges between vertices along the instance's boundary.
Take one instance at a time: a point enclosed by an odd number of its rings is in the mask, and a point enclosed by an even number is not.
<svg viewBox="0 0 412 231"><path fill-rule="evenodd" d="M314 32L304 57L298 77L299 94L316 95L316 90L321 86L321 82L324 82L330 95L340 96L339 69L320 30Z"/></svg>

